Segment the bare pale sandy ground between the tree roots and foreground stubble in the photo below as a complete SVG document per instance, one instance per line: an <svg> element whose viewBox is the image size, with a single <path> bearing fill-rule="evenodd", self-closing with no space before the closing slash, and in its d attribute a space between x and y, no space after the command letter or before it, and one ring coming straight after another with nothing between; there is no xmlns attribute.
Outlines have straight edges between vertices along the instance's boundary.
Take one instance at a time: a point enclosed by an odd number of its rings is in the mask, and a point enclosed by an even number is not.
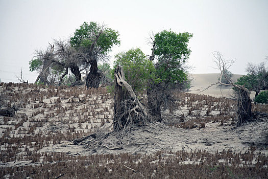
<svg viewBox="0 0 268 179"><path fill-rule="evenodd" d="M135 154L152 153L157 150L245 152L251 146L259 148L267 154L268 141L263 135L268 132L267 123L268 118L266 117L240 127L235 127L231 122L224 125L221 125L220 122L210 122L205 124L205 128L193 129L177 128L163 123L149 123L143 127L135 127L123 139L120 138L118 132L111 132L109 135L106 133L107 136L99 139L89 137L79 144L85 147L79 154L118 152Z"/></svg>

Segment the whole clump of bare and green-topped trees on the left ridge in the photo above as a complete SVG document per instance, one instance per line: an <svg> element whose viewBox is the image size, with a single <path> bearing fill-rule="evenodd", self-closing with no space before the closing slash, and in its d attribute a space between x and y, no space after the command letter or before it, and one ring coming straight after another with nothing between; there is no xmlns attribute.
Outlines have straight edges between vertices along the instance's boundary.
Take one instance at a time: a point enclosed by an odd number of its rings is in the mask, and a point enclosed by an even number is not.
<svg viewBox="0 0 268 179"><path fill-rule="evenodd" d="M46 50L37 50L29 62L30 71L40 73L36 82L59 85L70 71L75 76L72 85L77 85L82 84L81 71L90 66L87 87L98 87L103 74L98 70L97 61L107 59L112 46L119 43L118 32L85 22L70 39L54 39Z"/></svg>

